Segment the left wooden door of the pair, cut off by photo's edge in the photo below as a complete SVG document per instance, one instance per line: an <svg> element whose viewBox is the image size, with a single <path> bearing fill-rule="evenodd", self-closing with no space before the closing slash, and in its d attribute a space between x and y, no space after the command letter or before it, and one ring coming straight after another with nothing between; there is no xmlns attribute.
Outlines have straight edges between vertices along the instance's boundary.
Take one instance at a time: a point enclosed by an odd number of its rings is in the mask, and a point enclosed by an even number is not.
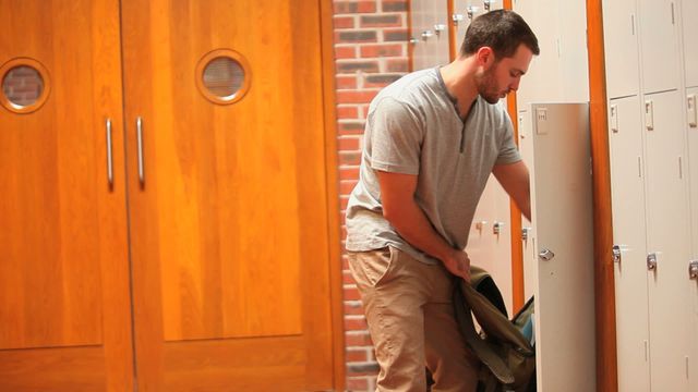
<svg viewBox="0 0 698 392"><path fill-rule="evenodd" d="M127 391L119 2L1 0L0 10L0 390ZM31 83L12 72L23 66L44 81L27 101Z"/></svg>

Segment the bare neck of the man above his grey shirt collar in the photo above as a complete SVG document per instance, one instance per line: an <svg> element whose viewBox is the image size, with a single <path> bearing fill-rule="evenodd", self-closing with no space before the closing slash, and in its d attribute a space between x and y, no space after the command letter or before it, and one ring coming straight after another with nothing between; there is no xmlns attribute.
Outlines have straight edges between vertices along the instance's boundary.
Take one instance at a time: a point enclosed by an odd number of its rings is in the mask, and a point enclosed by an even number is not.
<svg viewBox="0 0 698 392"><path fill-rule="evenodd" d="M461 119L466 119L470 107L478 98L478 88L474 81L474 57L458 58L452 63L442 66L440 72L446 85L446 90L452 97L456 98L458 115Z"/></svg>

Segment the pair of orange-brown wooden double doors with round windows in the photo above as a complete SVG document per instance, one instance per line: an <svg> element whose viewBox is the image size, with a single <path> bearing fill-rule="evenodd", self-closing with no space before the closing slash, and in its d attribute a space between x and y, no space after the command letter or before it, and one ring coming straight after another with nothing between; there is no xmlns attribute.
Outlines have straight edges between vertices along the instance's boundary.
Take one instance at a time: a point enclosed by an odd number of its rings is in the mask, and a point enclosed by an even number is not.
<svg viewBox="0 0 698 392"><path fill-rule="evenodd" d="M0 0L0 390L338 382L320 7Z"/></svg>

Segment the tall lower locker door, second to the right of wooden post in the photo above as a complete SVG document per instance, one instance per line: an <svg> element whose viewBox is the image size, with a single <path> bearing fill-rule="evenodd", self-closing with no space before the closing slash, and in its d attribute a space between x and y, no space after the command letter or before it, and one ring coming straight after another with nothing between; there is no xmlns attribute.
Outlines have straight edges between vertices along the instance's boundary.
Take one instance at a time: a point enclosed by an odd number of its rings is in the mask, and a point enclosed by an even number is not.
<svg viewBox="0 0 698 392"><path fill-rule="evenodd" d="M682 95L643 98L652 391L688 391L689 210Z"/></svg>

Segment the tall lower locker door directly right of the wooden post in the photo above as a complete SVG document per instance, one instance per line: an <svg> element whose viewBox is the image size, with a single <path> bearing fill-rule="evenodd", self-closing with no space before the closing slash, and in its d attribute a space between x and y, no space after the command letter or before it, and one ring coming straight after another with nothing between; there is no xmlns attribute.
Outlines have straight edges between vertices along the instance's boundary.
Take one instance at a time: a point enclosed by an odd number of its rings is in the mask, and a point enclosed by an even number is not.
<svg viewBox="0 0 698 392"><path fill-rule="evenodd" d="M649 315L640 99L609 103L619 392L649 392Z"/></svg>

